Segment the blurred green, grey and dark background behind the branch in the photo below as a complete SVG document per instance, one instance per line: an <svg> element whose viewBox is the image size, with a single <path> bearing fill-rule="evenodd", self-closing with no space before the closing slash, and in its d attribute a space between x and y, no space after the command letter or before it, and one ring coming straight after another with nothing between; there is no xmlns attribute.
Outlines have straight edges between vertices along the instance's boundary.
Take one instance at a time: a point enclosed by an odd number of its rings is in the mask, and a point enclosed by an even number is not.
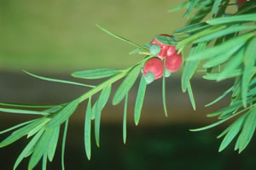
<svg viewBox="0 0 256 170"><path fill-rule="evenodd" d="M184 26L183 10L167 13L167 9L177 3L179 1L170 0L0 0L0 102L55 105L79 97L88 88L44 82L21 70L44 77L98 84L102 81L77 80L69 75L92 68L123 69L143 56L129 55L134 49L130 44L108 36L96 24L143 44L157 34L172 34ZM181 71L178 71L166 80L167 118L161 103L161 82L150 84L137 127L132 116L136 82L130 93L126 144L122 142L123 103L113 106L108 102L102 113L101 147L96 148L92 138L91 161L87 161L84 152L86 103L79 105L70 119L67 133L67 170L253 169L255 138L238 155L233 151L234 144L218 153L221 140L216 136L227 124L200 133L189 132L190 128L217 121L207 118L206 114L228 105L229 97L209 108L204 105L222 94L232 80L209 82L197 74L192 81L197 104L193 111L188 94L181 92L180 77ZM113 92L119 83L115 83ZM34 116L1 113L0 130L32 118ZM2 134L0 139L7 135ZM1 169L12 169L26 142L20 139L0 150ZM61 169L60 156L61 141L48 169ZM26 169L27 161L23 161L19 169Z"/></svg>

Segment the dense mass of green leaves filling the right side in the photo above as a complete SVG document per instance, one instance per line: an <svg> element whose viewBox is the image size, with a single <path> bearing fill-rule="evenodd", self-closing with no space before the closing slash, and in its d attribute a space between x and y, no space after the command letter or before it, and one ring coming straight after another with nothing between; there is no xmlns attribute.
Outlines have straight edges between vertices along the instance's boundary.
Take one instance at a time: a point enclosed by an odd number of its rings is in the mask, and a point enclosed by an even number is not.
<svg viewBox="0 0 256 170"><path fill-rule="evenodd" d="M201 3L204 2L204 3ZM185 5L184 5L185 4ZM204 6L204 8L199 8ZM234 84L224 94L214 99L213 105L226 95L230 94L230 105L215 111L207 116L218 116L219 122L193 129L191 131L205 130L215 127L236 116L236 120L221 133L218 138L225 135L220 144L219 151L224 150L230 142L236 139L235 150L239 153L247 147L253 137L256 127L255 116L255 59L256 59L256 3L244 3L235 14L226 14L226 8L237 3L228 0L215 1L188 1L181 3L171 11L188 8L185 15L191 14L192 9L197 10L191 16L188 26L174 31L173 37L180 38L177 49L191 45L189 55L186 57L182 75L182 90L188 90L189 97L195 108L195 100L191 97L190 80L196 69L202 65L204 79L209 81L224 81L233 79ZM204 11L202 11L204 10ZM212 19L204 21L208 14ZM201 16L201 17L199 17ZM200 22L199 22L200 21Z"/></svg>

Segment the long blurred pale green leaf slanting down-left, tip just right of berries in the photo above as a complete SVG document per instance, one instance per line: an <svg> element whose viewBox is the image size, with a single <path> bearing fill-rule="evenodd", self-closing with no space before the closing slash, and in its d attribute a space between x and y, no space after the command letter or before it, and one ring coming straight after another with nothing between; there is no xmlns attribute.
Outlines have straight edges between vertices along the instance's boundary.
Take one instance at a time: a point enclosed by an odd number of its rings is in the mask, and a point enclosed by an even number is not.
<svg viewBox="0 0 256 170"><path fill-rule="evenodd" d="M236 46L241 46L247 42L247 39L253 37L253 33L244 34L235 38L230 39L229 41L223 42L218 46L214 46L213 48L207 48L206 50L201 51L200 53L196 53L191 55L187 60L197 60L197 59L207 59L214 57L218 54L222 54L227 52L227 49L235 48Z"/></svg>

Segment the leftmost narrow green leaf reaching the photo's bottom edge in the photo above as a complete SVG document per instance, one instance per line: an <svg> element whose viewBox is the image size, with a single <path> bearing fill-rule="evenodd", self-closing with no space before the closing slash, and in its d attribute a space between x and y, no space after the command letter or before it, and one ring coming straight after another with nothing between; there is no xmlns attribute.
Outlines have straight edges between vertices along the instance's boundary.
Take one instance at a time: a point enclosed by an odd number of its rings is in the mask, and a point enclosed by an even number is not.
<svg viewBox="0 0 256 170"><path fill-rule="evenodd" d="M35 144L37 144L38 139L42 136L44 133L44 129L42 128L33 138L32 140L26 145L24 150L20 153L20 156L15 161L14 170L19 166L20 162L26 157L27 153L32 150Z"/></svg>

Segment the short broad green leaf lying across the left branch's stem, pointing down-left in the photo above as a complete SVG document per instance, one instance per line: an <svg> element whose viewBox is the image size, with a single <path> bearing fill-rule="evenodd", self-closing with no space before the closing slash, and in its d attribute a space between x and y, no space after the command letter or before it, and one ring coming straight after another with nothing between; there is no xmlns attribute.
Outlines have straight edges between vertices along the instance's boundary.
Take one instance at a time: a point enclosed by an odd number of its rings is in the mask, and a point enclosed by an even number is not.
<svg viewBox="0 0 256 170"><path fill-rule="evenodd" d="M79 99L74 99L67 106L65 106L60 112L55 114L51 120L47 123L47 127L56 127L61 125L62 122L67 121L69 116L77 109L79 105Z"/></svg>

